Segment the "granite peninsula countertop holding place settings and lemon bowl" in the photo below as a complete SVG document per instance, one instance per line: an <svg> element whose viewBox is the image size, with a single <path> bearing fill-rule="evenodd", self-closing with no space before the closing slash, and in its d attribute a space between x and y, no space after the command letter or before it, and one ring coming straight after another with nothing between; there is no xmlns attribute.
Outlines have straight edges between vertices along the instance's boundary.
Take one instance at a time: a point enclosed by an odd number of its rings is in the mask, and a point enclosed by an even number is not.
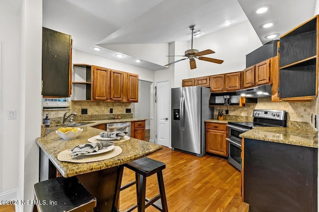
<svg viewBox="0 0 319 212"><path fill-rule="evenodd" d="M145 120L145 119L144 119ZM142 141L138 139L131 138L128 141L123 141L117 143L116 145L122 148L122 153L111 159L106 159L97 162L90 163L71 163L71 162L61 162L57 159L59 152L65 149L71 149L76 145L87 143L87 139L99 135L101 130L93 128L98 124L104 123L115 123L115 122L127 122L127 121L140 121L140 119L120 119L120 120L101 120L94 121L94 123L81 126L83 132L79 137L73 140L63 140L56 133L55 130L59 128L49 127L45 128L45 135L43 137L37 138L36 143L44 151L44 153L49 157L55 167L59 170L63 177L71 177L74 175L89 173L93 171L98 171L106 168L111 168L127 162L145 157L152 154L162 148L161 145ZM90 121L92 122L92 121Z"/></svg>

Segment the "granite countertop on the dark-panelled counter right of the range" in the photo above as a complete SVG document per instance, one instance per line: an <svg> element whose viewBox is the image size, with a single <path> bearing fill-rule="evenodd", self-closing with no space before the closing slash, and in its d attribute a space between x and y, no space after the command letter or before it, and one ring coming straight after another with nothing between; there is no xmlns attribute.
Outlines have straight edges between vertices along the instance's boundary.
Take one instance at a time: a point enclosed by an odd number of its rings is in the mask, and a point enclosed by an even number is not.
<svg viewBox="0 0 319 212"><path fill-rule="evenodd" d="M315 130L289 127L256 127L240 134L239 137L318 148L318 132Z"/></svg>

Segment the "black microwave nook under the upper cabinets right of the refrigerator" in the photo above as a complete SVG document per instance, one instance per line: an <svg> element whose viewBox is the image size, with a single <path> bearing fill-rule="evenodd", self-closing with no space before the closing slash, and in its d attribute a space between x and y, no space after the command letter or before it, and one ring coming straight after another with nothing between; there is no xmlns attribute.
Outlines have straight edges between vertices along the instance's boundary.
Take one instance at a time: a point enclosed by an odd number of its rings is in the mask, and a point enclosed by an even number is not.
<svg viewBox="0 0 319 212"><path fill-rule="evenodd" d="M236 92L210 93L209 106L239 105L240 95Z"/></svg>

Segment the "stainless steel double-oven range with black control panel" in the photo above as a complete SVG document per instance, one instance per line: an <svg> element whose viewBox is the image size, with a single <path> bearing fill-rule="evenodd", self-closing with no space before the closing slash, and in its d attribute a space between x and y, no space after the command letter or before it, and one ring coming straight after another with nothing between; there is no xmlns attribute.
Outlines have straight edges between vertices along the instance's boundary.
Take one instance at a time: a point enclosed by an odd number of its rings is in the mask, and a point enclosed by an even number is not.
<svg viewBox="0 0 319 212"><path fill-rule="evenodd" d="M287 127L287 112L284 110L254 110L253 122L228 122L228 162L241 171L240 134L255 127Z"/></svg>

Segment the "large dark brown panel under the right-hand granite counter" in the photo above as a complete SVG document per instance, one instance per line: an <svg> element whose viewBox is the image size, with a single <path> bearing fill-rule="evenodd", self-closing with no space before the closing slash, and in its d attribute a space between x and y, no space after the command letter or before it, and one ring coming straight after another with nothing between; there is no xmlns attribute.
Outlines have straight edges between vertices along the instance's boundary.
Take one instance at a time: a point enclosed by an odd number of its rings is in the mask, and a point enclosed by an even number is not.
<svg viewBox="0 0 319 212"><path fill-rule="evenodd" d="M244 139L243 202L252 212L317 212L318 148Z"/></svg>

